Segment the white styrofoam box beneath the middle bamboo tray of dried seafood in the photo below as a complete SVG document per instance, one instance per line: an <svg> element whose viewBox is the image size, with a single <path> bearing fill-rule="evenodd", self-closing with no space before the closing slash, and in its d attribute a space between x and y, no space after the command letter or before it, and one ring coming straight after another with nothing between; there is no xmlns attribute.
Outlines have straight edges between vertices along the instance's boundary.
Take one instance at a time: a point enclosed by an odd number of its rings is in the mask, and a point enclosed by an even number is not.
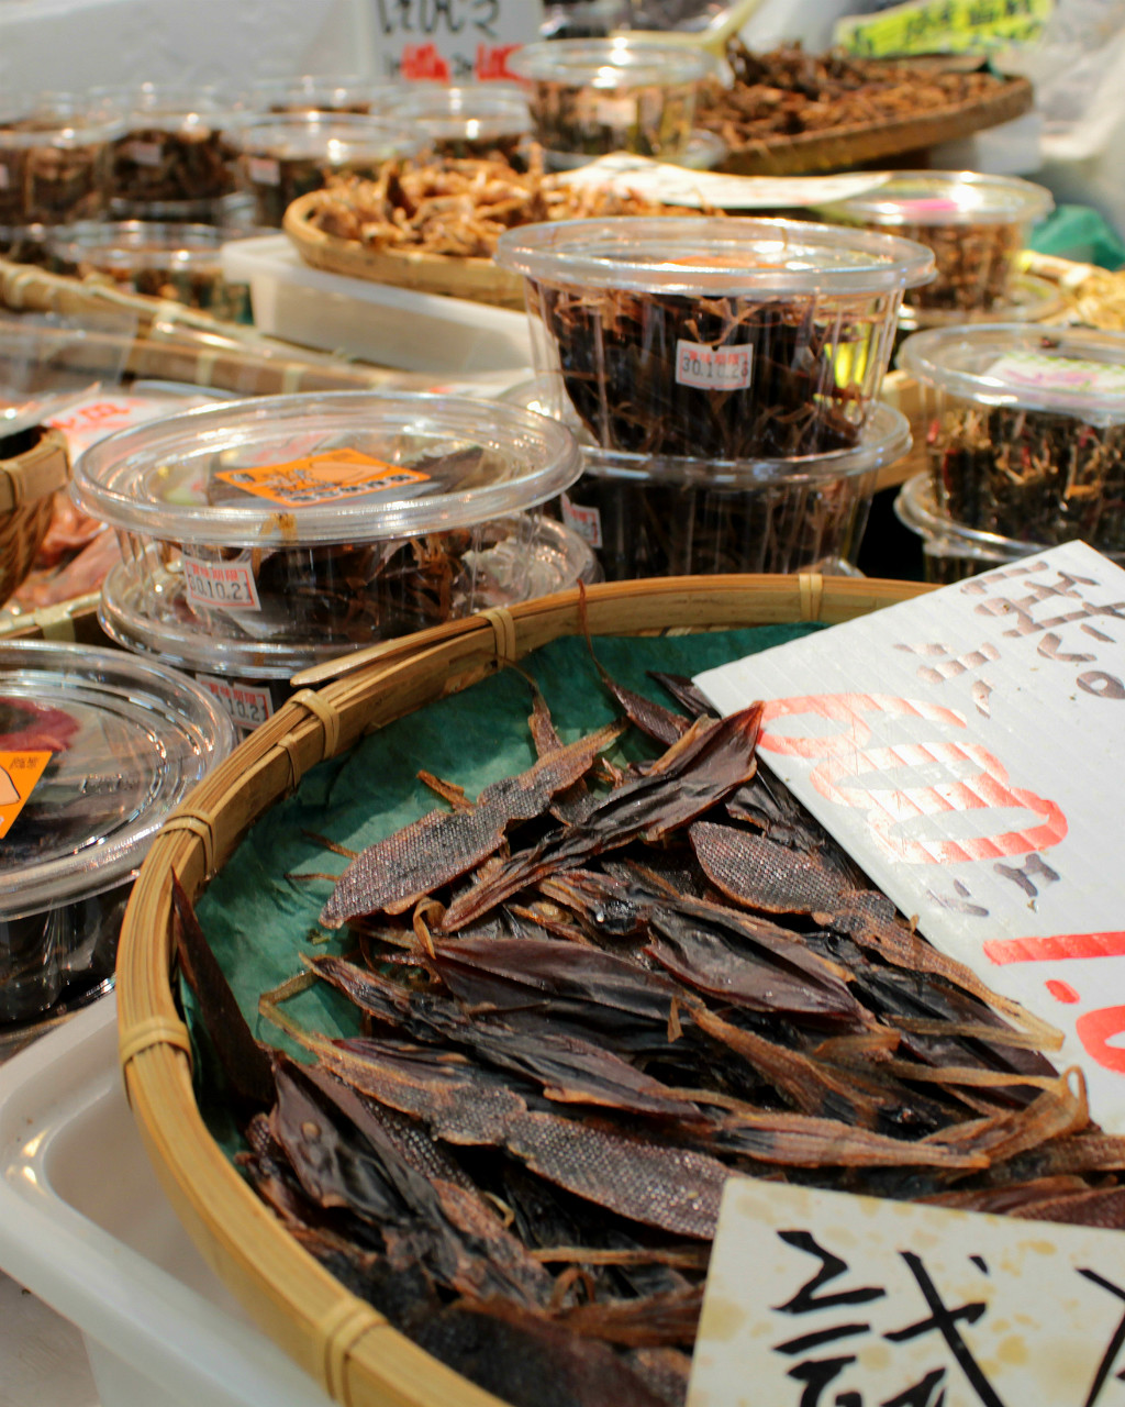
<svg viewBox="0 0 1125 1407"><path fill-rule="evenodd" d="M523 312L312 269L284 234L232 241L222 272L250 286L255 326L287 342L402 371L530 374Z"/></svg>

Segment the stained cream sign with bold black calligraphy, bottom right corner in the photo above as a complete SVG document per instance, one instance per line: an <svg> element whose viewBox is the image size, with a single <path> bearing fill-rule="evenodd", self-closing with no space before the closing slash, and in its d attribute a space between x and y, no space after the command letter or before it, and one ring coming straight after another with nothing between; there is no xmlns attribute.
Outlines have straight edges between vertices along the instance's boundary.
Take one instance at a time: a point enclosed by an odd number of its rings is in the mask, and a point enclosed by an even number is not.
<svg viewBox="0 0 1125 1407"><path fill-rule="evenodd" d="M1119 1231L731 1178L688 1407L1114 1407Z"/></svg>

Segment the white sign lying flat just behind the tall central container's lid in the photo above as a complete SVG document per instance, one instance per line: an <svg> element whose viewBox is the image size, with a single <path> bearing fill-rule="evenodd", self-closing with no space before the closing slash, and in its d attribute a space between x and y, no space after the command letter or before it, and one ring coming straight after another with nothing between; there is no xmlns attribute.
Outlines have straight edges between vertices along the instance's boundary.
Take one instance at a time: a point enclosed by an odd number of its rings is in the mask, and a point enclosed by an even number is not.
<svg viewBox="0 0 1125 1407"><path fill-rule="evenodd" d="M636 193L668 205L714 205L720 210L788 210L851 200L890 180L889 172L841 176L723 176L654 162L633 152L610 152L596 162L560 172L568 186L599 186Z"/></svg>

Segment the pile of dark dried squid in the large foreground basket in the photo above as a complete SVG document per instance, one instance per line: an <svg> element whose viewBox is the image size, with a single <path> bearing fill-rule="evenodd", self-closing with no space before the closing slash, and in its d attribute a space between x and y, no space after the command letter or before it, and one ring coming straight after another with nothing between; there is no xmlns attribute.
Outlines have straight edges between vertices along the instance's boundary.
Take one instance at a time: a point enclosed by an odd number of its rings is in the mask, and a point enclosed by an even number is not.
<svg viewBox="0 0 1125 1407"><path fill-rule="evenodd" d="M177 898L240 1165L297 1241L512 1403L667 1407L733 1172L1119 1225L1122 1141L757 771L761 708L606 682L655 760L605 756L624 723L561 744L536 691L534 765L475 802L419 774L447 806L352 860L322 922L354 951L301 981L364 1034L263 999L311 1064L208 991Z"/></svg>

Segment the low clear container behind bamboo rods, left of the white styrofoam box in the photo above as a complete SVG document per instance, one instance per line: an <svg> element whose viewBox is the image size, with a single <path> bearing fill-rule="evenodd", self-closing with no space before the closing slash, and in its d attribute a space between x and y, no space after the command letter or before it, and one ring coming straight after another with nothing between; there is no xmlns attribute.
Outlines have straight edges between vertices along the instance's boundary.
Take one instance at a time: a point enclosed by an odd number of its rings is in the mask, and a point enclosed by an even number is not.
<svg viewBox="0 0 1125 1407"><path fill-rule="evenodd" d="M46 248L56 273L103 274L128 293L249 322L249 287L222 276L222 248L233 236L218 225L82 221L53 234Z"/></svg>

